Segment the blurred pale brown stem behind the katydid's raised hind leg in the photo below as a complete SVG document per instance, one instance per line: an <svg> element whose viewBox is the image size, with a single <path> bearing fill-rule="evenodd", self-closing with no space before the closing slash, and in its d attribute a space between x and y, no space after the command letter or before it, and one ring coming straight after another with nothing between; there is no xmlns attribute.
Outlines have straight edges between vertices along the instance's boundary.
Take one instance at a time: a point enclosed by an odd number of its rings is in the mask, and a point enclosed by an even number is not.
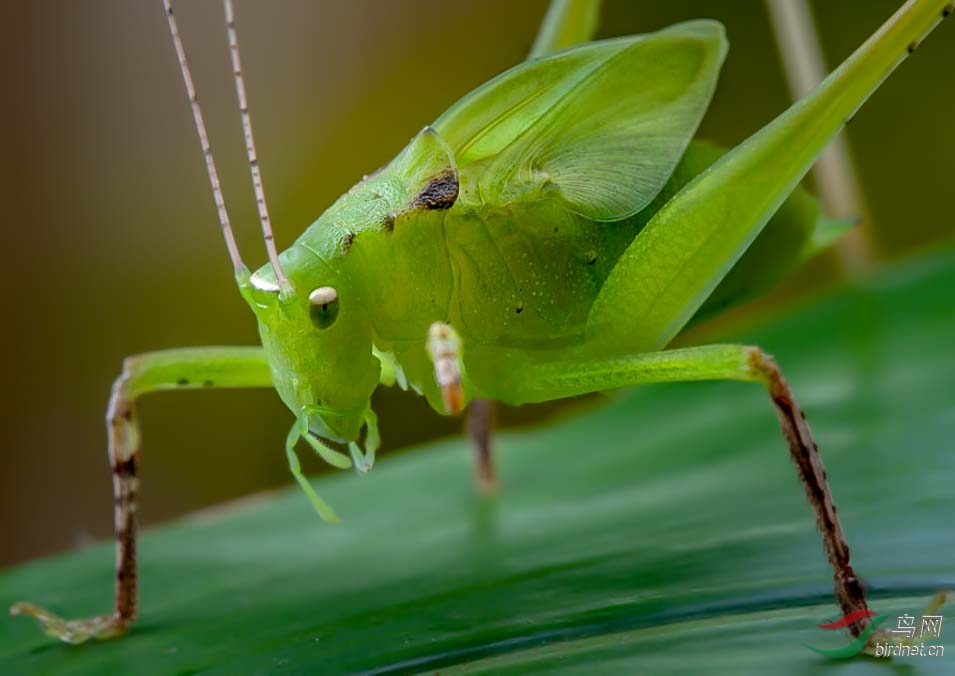
<svg viewBox="0 0 955 676"><path fill-rule="evenodd" d="M807 0L766 0L770 24L793 100L802 98L826 76L822 47ZM813 167L819 197L834 218L858 218L859 227L837 246L844 271L853 276L874 257L872 231L848 143L837 136Z"/></svg>

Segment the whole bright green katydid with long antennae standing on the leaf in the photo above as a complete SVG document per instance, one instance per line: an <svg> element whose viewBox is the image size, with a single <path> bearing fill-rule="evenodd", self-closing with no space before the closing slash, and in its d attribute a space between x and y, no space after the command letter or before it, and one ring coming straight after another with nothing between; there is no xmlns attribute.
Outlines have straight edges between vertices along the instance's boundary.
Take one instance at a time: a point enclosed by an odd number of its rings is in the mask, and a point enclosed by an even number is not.
<svg viewBox="0 0 955 676"><path fill-rule="evenodd" d="M71 643L136 616L137 399L186 387L274 387L304 442L367 471L373 391L398 385L439 413L470 402L546 401L643 383L762 384L814 509L843 611L865 610L827 478L778 367L757 347L666 350L694 317L766 287L838 224L797 188L826 143L942 19L909 0L815 90L734 150L695 141L727 43L714 21L583 43L598 3L555 0L531 58L466 95L278 254L265 207L230 0L226 23L269 263L243 264L219 189L175 18L164 0L239 291L261 347L129 357L107 413L117 546L114 612L64 621ZM486 432L486 430L485 430ZM480 436L480 435L479 435ZM486 434L483 435L486 437ZM483 478L493 481L485 456ZM858 620L859 635L868 620ZM871 633L871 629L869 630Z"/></svg>

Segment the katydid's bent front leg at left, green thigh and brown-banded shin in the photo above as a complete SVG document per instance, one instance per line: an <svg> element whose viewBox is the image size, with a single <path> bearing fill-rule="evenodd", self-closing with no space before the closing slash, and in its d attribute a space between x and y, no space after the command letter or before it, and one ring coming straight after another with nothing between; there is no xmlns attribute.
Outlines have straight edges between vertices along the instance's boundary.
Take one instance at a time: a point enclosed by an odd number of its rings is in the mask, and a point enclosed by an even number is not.
<svg viewBox="0 0 955 676"><path fill-rule="evenodd" d="M139 489L139 424L136 401L147 392L211 387L271 387L259 347L199 347L127 357L113 383L106 413L113 474L116 538L116 600L111 615L64 620L32 603L17 603L12 615L32 615L43 631L66 643L120 636L136 619L136 509Z"/></svg>

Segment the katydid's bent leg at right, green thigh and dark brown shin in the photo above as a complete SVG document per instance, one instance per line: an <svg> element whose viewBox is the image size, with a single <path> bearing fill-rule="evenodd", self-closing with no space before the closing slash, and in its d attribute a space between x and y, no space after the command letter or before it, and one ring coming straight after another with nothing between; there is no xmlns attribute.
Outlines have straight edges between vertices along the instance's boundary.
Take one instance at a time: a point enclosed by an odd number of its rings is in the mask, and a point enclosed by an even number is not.
<svg viewBox="0 0 955 676"><path fill-rule="evenodd" d="M844 614L867 610L865 589L849 562L849 546L836 514L819 449L806 417L796 403L779 367L758 347L707 345L609 359L585 358L515 364L509 389L515 402L561 399L588 392L647 383L694 380L741 380L762 383L772 399L789 453L806 497L816 516L823 547L835 577L835 590ZM850 625L858 636L869 623Z"/></svg>

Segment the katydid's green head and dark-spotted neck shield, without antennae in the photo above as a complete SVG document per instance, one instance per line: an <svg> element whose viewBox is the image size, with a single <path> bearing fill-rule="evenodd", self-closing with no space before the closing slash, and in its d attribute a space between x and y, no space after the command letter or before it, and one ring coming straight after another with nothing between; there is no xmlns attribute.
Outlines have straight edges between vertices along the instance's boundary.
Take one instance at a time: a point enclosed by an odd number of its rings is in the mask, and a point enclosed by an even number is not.
<svg viewBox="0 0 955 676"><path fill-rule="evenodd" d="M353 245L374 246L376 237L387 241L396 220L413 210L447 208L457 187L450 151L426 127L278 257L284 283L271 263L240 282L258 318L279 395L325 441L355 442L365 424L368 450L377 443L369 400L381 365L374 355L371 310L362 300L366 266L356 260L360 254Z"/></svg>

